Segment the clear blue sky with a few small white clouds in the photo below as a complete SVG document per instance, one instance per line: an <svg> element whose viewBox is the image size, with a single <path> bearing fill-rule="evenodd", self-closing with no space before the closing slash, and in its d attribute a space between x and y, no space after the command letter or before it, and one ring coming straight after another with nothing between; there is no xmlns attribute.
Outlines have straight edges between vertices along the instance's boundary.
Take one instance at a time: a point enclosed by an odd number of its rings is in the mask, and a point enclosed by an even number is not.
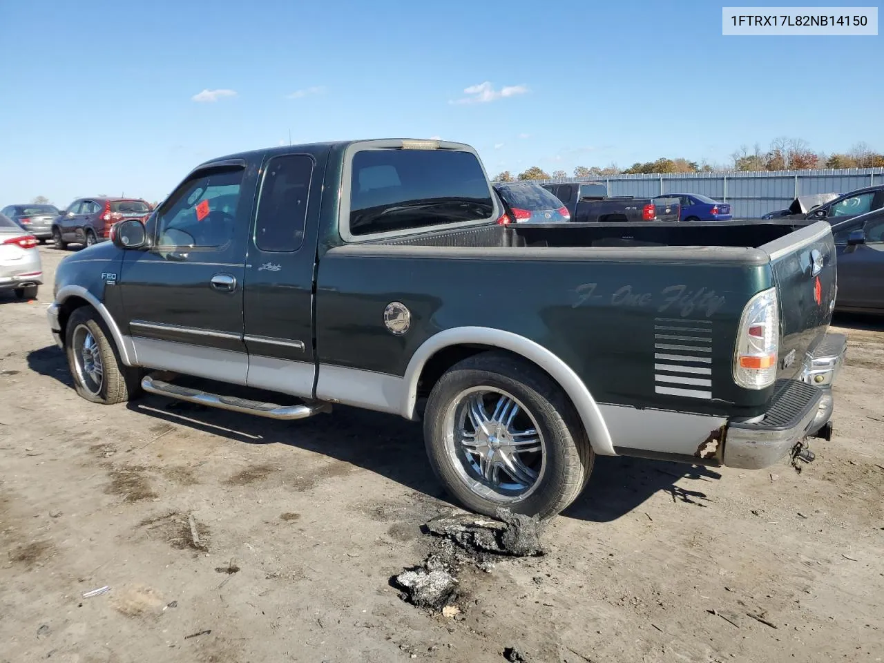
<svg viewBox="0 0 884 663"><path fill-rule="evenodd" d="M0 25L0 205L155 200L289 131L465 141L492 175L884 151L884 37L723 37L721 3L2 0Z"/></svg>

